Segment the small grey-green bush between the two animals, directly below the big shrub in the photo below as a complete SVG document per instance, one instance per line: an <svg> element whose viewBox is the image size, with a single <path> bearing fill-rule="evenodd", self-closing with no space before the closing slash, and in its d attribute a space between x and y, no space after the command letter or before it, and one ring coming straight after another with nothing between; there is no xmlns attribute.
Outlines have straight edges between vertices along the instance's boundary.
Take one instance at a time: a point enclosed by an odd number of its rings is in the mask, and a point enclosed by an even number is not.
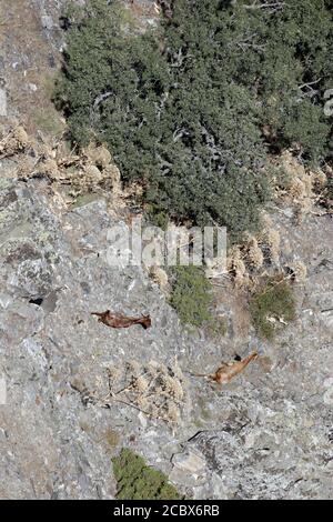
<svg viewBox="0 0 333 522"><path fill-rule="evenodd" d="M183 323L202 327L211 319L211 283L198 267L176 267L172 273L175 279L170 295L171 305Z"/></svg>

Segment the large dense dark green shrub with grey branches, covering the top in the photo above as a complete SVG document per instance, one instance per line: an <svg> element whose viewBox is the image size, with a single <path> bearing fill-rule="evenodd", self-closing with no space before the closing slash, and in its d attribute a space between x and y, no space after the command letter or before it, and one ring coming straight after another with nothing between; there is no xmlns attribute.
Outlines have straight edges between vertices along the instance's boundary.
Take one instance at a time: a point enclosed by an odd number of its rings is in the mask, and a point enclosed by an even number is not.
<svg viewBox="0 0 333 522"><path fill-rule="evenodd" d="M254 230L270 197L266 149L326 154L331 4L176 0L172 20L145 33L117 0L72 9L56 97L72 139L107 141L158 219Z"/></svg>

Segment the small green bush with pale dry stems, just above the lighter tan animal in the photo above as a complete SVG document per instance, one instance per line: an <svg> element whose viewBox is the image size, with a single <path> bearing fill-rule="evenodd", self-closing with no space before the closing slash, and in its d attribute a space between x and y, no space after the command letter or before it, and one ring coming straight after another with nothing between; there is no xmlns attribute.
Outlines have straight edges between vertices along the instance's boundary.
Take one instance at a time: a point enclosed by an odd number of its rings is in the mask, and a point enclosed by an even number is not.
<svg viewBox="0 0 333 522"><path fill-rule="evenodd" d="M271 341L278 328L295 319L296 303L290 283L283 277L270 278L253 295L250 311L258 333Z"/></svg>

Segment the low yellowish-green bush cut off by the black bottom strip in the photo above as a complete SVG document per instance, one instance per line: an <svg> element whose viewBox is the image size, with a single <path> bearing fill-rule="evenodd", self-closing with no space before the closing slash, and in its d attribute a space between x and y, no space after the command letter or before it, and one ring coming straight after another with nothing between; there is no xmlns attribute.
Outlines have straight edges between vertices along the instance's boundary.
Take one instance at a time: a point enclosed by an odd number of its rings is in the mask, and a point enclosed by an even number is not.
<svg viewBox="0 0 333 522"><path fill-rule="evenodd" d="M119 500L178 500L181 495L161 471L128 448L112 460Z"/></svg>

